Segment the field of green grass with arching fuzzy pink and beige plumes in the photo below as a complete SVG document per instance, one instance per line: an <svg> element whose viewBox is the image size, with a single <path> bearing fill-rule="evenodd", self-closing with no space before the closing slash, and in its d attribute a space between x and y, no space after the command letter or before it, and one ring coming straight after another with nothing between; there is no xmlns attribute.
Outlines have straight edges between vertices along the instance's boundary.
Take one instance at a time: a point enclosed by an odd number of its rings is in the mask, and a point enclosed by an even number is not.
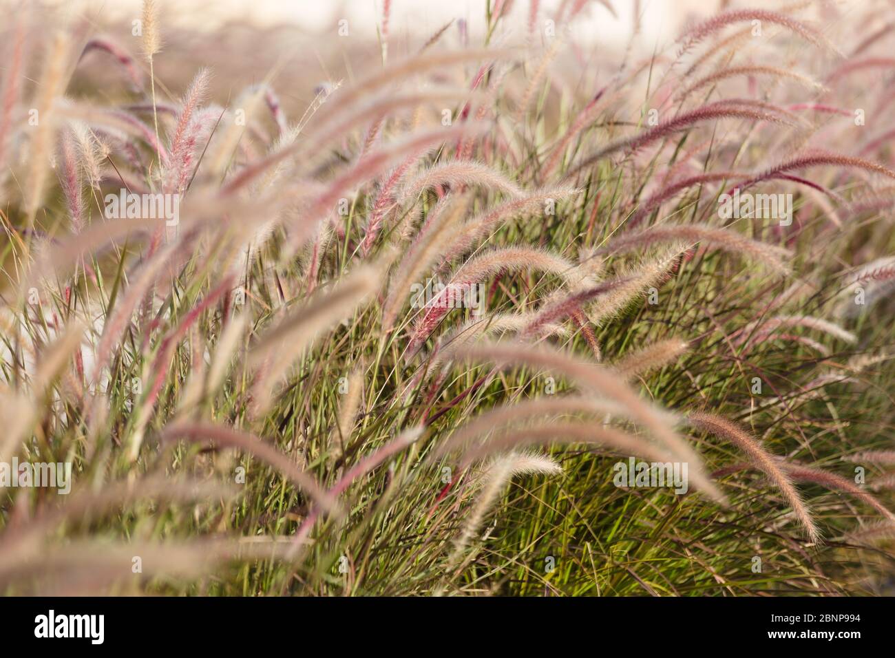
<svg viewBox="0 0 895 658"><path fill-rule="evenodd" d="M389 4L4 24L0 590L895 593L891 4Z"/></svg>

